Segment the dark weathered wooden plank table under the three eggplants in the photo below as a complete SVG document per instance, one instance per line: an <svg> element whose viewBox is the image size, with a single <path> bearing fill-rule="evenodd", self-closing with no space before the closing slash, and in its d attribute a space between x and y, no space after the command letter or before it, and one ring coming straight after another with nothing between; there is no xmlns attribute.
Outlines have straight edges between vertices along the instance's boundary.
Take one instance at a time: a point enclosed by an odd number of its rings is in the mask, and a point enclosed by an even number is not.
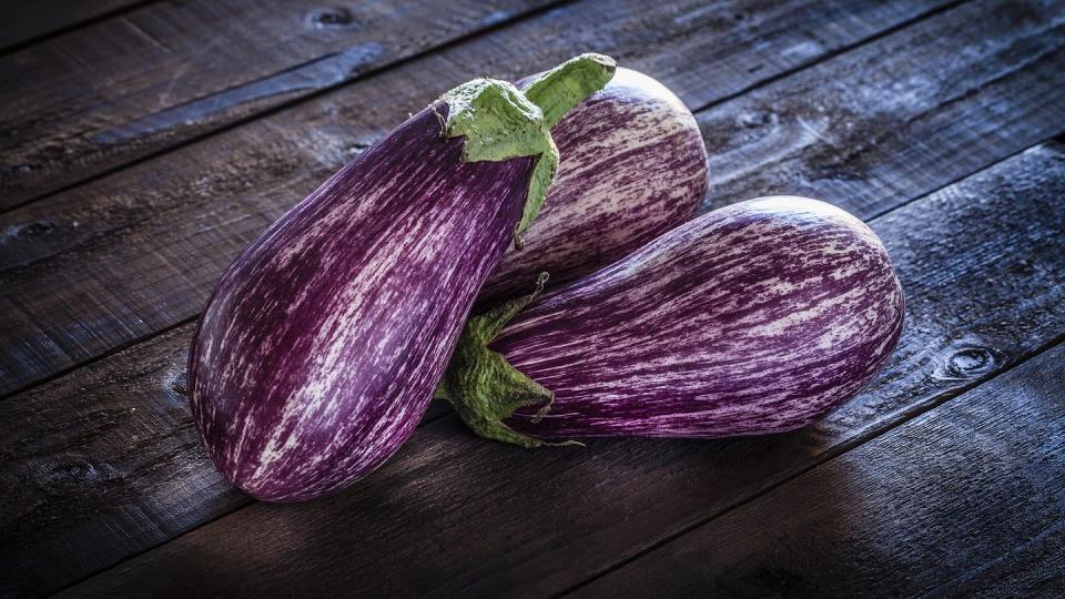
<svg viewBox="0 0 1065 599"><path fill-rule="evenodd" d="M1065 1L19 4L0 595L1065 593ZM788 435L527 451L433 408L346 493L227 485L184 387L222 268L440 91L590 50L696 112L703 210L868 220L907 296L886 370Z"/></svg>

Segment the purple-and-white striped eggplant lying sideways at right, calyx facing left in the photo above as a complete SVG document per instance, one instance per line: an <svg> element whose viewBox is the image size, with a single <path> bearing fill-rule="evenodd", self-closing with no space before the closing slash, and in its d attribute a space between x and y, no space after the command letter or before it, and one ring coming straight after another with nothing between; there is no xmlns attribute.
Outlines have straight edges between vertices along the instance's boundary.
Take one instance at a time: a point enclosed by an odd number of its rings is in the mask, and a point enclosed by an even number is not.
<svg viewBox="0 0 1065 599"><path fill-rule="evenodd" d="M815 200L751 200L471 318L438 394L523 446L784 432L853 396L902 315L865 224Z"/></svg>

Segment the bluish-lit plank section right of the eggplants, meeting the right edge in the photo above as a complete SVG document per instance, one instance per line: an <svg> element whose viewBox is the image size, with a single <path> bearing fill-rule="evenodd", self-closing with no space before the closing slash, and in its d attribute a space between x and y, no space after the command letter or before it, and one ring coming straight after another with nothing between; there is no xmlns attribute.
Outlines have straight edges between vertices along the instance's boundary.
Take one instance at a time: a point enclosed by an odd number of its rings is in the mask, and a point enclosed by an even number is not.
<svg viewBox="0 0 1065 599"><path fill-rule="evenodd" d="M707 203L868 219L1065 131L1063 90L1065 3L975 2L701 113Z"/></svg>

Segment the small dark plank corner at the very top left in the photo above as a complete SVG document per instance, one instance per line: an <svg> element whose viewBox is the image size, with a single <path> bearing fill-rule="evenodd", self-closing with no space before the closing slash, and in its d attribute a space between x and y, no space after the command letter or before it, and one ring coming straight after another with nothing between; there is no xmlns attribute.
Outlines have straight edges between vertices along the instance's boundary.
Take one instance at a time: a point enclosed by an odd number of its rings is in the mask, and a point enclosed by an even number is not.
<svg viewBox="0 0 1065 599"><path fill-rule="evenodd" d="M144 0L9 0L0 19L0 51L77 28Z"/></svg>

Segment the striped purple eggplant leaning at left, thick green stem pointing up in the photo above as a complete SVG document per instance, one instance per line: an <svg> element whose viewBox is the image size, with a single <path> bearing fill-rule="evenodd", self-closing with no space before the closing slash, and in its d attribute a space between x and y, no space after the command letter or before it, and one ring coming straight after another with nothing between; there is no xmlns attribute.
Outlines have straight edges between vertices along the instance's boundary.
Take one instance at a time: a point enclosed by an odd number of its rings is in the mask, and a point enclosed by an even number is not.
<svg viewBox="0 0 1065 599"><path fill-rule="evenodd" d="M399 447L478 290L544 201L558 162L549 128L613 70L585 54L521 91L459 85L244 250L189 358L193 415L227 479L304 500Z"/></svg>

